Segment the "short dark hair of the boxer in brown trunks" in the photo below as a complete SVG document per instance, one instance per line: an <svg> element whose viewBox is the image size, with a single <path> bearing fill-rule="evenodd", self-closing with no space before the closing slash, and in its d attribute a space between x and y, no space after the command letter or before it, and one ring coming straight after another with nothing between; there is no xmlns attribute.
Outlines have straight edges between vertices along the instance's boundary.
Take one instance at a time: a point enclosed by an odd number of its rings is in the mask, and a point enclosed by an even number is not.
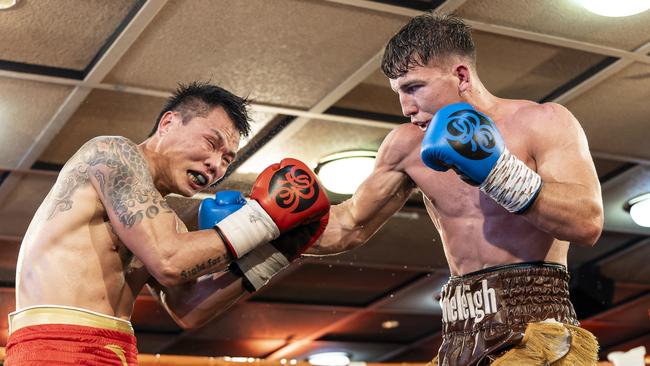
<svg viewBox="0 0 650 366"><path fill-rule="evenodd" d="M425 13L411 19L391 38L384 50L381 71L390 79L449 55L476 62L471 28L448 14Z"/></svg>

